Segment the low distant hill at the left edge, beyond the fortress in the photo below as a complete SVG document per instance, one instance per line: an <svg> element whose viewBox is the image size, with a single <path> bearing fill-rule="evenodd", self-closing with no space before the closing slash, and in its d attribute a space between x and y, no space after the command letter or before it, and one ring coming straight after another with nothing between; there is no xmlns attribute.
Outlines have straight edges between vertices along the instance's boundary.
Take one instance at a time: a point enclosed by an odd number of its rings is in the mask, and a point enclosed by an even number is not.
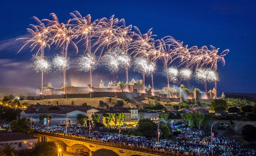
<svg viewBox="0 0 256 156"><path fill-rule="evenodd" d="M29 95L35 95L35 91L28 90L28 89L18 89L18 88L0 88L0 98L10 94L13 94L14 96L19 96L19 95L29 96Z"/></svg>

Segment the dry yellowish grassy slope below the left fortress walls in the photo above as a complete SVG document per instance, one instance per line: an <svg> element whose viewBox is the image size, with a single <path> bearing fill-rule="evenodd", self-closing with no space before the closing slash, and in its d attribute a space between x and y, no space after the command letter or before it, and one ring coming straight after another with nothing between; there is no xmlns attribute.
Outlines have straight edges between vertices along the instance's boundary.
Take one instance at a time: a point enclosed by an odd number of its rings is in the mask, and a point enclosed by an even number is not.
<svg viewBox="0 0 256 156"><path fill-rule="evenodd" d="M20 103L28 103L31 104L46 104L46 105L56 105L57 101L59 105L71 105L71 102L74 101L74 105L82 105L83 103L87 103L87 105L90 105L92 107L102 107L100 106L99 102L102 100L103 102L106 102L109 107L114 106L114 104L117 102L117 100L121 100L120 98L112 98L112 101L109 101L109 97L95 97L95 98L59 98L59 99L43 99L43 100L22 100ZM124 102L124 107L130 106L131 103ZM136 107L134 104L132 104L132 107Z"/></svg>

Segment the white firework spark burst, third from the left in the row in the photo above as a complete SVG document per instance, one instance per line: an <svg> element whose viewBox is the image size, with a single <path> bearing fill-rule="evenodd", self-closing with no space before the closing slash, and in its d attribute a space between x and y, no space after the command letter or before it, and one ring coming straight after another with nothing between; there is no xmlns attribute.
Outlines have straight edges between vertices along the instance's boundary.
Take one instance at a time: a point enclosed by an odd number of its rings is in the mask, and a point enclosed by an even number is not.
<svg viewBox="0 0 256 156"><path fill-rule="evenodd" d="M96 69L97 66L97 61L95 55L92 53L87 53L85 55L82 55L78 59L78 66L79 70L88 72L89 70L94 70Z"/></svg>

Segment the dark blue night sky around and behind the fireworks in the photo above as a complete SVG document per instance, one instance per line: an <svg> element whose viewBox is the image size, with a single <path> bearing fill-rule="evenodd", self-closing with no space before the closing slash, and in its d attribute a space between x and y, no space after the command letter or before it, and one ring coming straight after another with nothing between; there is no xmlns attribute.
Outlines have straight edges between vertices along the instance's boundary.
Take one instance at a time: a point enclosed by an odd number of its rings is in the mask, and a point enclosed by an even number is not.
<svg viewBox="0 0 256 156"><path fill-rule="evenodd" d="M20 43L17 37L26 34L26 28L32 23L32 16L39 19L50 18L55 13L61 22L70 18L69 13L78 10L83 16L90 14L92 20L115 15L124 18L126 24L137 26L142 32L153 28L153 34L158 38L173 36L184 42L183 45L198 46L214 45L220 52L229 49L225 57L224 67L218 64L220 82L218 92L248 92L255 93L256 63L256 1L1 1L0 24L0 87L18 87L36 89L40 86L39 74L32 71L31 53L28 49L18 54ZM54 51L50 51L49 56ZM57 53L57 52L55 52ZM70 57L77 58L72 52ZM75 60L73 60L75 62ZM89 83L88 73L75 71L71 68L67 73L68 81L74 85ZM155 88L161 89L166 79L161 74L162 68L154 76ZM105 73L105 74L104 74ZM121 81L125 81L124 71L117 73ZM129 70L130 78L141 78ZM94 71L94 86L102 77L107 83L112 74L103 66ZM53 81L59 87L61 75L49 73L46 81ZM146 84L150 77L146 78ZM187 83L184 83L185 85ZM191 86L204 90L202 84L191 81ZM208 90L213 88L208 83Z"/></svg>

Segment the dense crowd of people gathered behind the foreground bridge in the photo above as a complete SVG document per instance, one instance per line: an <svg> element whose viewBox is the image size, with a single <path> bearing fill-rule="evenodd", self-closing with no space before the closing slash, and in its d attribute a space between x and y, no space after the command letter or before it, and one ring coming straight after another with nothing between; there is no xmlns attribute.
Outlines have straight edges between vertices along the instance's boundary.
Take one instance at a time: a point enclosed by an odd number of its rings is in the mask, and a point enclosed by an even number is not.
<svg viewBox="0 0 256 156"><path fill-rule="evenodd" d="M173 129L173 131L180 131L180 134L173 140L146 138L144 136L133 136L107 133L100 131L91 131L90 136L88 130L83 126L34 126L35 131L48 132L60 135L67 135L72 137L93 139L97 141L104 141L110 143L123 144L134 147L141 147L147 149L168 151L172 153L179 153L191 156L210 156L211 155L211 136L210 133L199 131L191 128ZM119 140L120 137L120 140ZM229 138L216 136L213 141L213 155L214 156L256 156L256 151L243 149L239 142L229 140Z"/></svg>

